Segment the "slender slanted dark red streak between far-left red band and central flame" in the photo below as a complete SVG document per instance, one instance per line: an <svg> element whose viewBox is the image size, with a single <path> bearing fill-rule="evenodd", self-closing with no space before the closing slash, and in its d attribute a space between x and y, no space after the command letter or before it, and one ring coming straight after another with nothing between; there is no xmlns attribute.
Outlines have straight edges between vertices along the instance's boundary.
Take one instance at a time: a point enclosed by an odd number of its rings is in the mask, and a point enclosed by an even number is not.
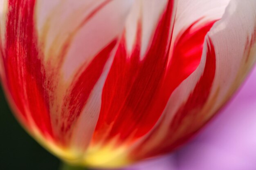
<svg viewBox="0 0 256 170"><path fill-rule="evenodd" d="M78 77L70 87L70 93L64 98L64 107L61 113L61 135L64 137L74 121L81 115L83 107L86 105L88 98L103 73L103 68L106 65L107 60L114 47L117 44L117 40L113 40L98 55L94 57L89 66L82 73L77 73ZM81 67L80 70L83 70ZM85 122L87 123L87 122ZM66 136L67 137L67 136Z"/></svg>

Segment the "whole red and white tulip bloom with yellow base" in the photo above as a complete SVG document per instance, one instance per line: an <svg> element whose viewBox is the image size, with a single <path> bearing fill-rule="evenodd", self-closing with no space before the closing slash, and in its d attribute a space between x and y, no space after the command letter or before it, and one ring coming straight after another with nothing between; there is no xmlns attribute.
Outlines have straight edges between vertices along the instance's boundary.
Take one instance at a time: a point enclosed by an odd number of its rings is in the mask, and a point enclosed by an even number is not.
<svg viewBox="0 0 256 170"><path fill-rule="evenodd" d="M256 60L255 0L0 0L17 119L66 163L122 167L184 144Z"/></svg>

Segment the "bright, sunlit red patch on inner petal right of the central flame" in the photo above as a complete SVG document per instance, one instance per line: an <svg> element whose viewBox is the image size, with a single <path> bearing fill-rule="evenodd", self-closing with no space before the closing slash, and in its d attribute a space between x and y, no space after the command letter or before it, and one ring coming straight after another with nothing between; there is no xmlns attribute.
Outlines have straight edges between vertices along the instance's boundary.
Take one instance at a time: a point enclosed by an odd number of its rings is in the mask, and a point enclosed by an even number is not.
<svg viewBox="0 0 256 170"><path fill-rule="evenodd" d="M199 28L193 28L193 26L195 26L198 21L191 24L191 26L189 26L189 28L186 29L184 33L182 33L174 46L169 75L166 75L166 77L169 79L172 77L170 80L175 78L177 79L177 77L180 77L178 79L183 80L184 77L188 77L191 73L193 73L200 64L204 37L216 22L216 20L200 26ZM177 72L175 72L177 70L182 72L178 73L177 75Z"/></svg>

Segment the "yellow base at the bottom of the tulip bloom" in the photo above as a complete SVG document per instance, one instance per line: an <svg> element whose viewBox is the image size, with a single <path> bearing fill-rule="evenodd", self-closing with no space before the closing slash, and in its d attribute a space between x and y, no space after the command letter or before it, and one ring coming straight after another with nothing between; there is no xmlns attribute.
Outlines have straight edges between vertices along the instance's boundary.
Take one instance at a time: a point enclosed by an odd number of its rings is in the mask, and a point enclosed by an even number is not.
<svg viewBox="0 0 256 170"><path fill-rule="evenodd" d="M71 165L85 166L92 168L121 168L129 165L132 161L128 159L127 146L117 146L115 142L108 145L89 146L85 152L77 149L61 148L51 140L46 140L40 132L35 130L38 143Z"/></svg>

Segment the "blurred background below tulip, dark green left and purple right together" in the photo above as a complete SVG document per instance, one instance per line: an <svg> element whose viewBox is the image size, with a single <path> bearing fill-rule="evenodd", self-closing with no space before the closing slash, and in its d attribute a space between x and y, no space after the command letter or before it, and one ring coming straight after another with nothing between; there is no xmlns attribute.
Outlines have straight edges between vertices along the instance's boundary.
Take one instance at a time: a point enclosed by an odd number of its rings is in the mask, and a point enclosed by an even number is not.
<svg viewBox="0 0 256 170"><path fill-rule="evenodd" d="M58 170L14 119L0 91L0 170ZM256 68L234 98L176 152L125 170L256 170Z"/></svg>

